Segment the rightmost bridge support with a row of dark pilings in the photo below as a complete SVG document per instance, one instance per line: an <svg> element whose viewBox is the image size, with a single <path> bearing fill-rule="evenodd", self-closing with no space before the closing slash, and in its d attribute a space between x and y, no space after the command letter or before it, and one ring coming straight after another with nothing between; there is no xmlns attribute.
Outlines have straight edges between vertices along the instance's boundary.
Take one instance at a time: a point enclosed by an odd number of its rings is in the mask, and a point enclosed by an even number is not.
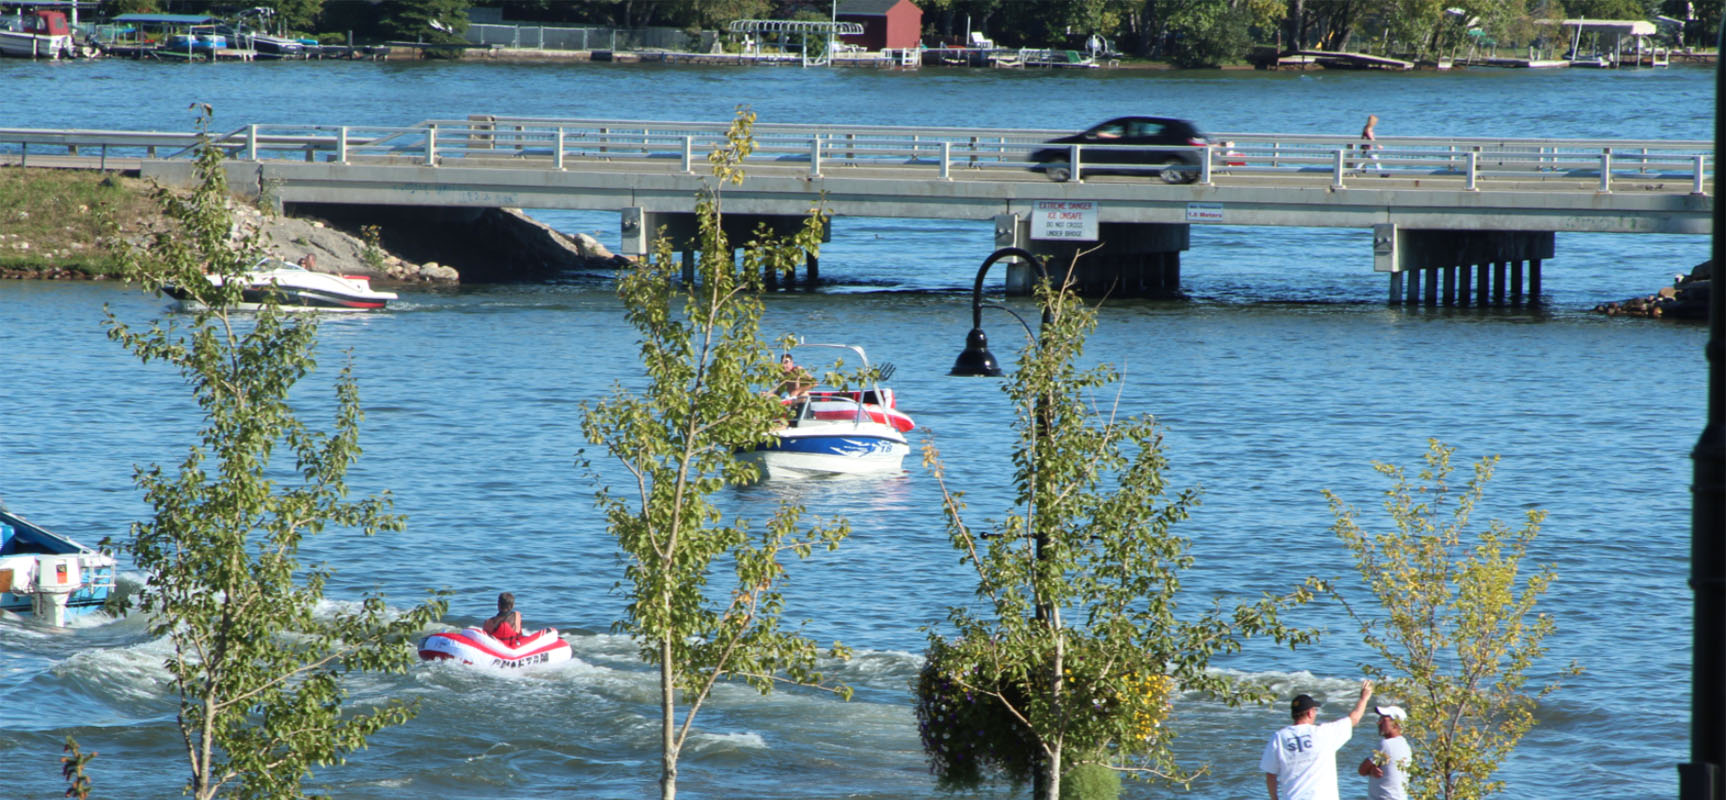
<svg viewBox="0 0 1726 800"><path fill-rule="evenodd" d="M1445 304L1471 301L1477 306L1488 302L1521 304L1524 299L1524 263L1528 270L1528 294L1531 302L1540 297L1540 261L1553 256L1555 237L1552 232L1528 230L1410 230L1396 225L1372 226L1372 268L1389 273L1391 304L1398 295L1412 306L1426 301L1434 304L1436 297L1445 297ZM1488 264L1491 271L1488 273ZM1443 276L1439 276L1443 270ZM1471 295L1471 270L1474 292ZM1422 271L1426 292L1420 292ZM1507 275L1509 271L1509 275ZM1407 275L1407 276L1405 276ZM1443 289L1436 283L1443 280ZM1491 289L1488 289L1488 285ZM1490 292L1490 294L1488 294ZM1491 297L1488 301L1488 297Z"/></svg>

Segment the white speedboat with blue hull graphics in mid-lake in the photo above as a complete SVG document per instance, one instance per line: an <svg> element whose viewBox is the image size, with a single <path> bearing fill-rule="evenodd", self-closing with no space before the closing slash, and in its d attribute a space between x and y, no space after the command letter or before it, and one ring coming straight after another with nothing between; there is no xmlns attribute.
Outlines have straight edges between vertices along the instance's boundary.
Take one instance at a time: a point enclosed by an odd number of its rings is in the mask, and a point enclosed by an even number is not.
<svg viewBox="0 0 1726 800"><path fill-rule="evenodd" d="M863 347L851 344L799 344L797 347L835 347L856 352L868 370ZM891 375L891 365L882 371ZM868 389L822 389L794 394L782 401L785 425L773 430L773 441L740 453L768 480L794 480L818 475L896 473L911 451L904 434L917 427L899 411L891 389L879 382Z"/></svg>

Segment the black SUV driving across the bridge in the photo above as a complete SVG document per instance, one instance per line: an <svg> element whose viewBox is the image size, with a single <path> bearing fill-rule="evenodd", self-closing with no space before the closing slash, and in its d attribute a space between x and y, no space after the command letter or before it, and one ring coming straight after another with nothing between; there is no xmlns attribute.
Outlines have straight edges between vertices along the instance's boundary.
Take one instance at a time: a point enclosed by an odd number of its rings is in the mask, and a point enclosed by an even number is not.
<svg viewBox="0 0 1726 800"><path fill-rule="evenodd" d="M1112 164L1162 164L1156 175L1163 183L1193 183L1198 180L1198 150L1165 150L1163 147L1205 147L1206 140L1200 130L1186 119L1170 117L1115 117L1096 124L1084 133L1051 138L1051 145L1146 145L1132 149L1084 149L1079 162L1084 175L1127 173L1144 175L1139 169L1110 169ZM1065 181L1072 178L1070 147L1044 147L1030 154L1036 162L1032 169L1046 173L1049 178Z"/></svg>

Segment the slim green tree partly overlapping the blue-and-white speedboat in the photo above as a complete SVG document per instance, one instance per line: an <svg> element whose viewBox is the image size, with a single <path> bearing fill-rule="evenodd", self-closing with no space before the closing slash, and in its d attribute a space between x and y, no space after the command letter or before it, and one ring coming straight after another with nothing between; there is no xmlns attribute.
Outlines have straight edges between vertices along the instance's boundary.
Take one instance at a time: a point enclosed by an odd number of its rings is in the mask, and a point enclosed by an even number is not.
<svg viewBox="0 0 1726 800"><path fill-rule="evenodd" d="M623 492L602 487L597 505L625 562L628 606L616 629L633 636L642 658L659 669L665 800L677 797L678 755L718 681L740 679L761 693L780 681L823 686L816 644L780 625L782 558L834 549L849 534L842 520L799 530L803 508L792 503L759 529L727 522L711 499L758 477L737 453L766 442L782 422L778 399L763 394L778 382L761 339L763 270L787 271L820 244L820 218L811 214L791 240L761 235L740 263L734 259L720 188L742 181L753 123L754 114L739 111L727 145L708 157L716 183L696 207L696 283L678 285L682 268L666 240L618 282L625 314L642 337L647 385L620 385L585 408L582 420L587 439L604 444L633 480ZM732 582L709 591L718 563L730 567ZM834 644L828 655L847 653ZM849 689L828 688L849 698Z"/></svg>

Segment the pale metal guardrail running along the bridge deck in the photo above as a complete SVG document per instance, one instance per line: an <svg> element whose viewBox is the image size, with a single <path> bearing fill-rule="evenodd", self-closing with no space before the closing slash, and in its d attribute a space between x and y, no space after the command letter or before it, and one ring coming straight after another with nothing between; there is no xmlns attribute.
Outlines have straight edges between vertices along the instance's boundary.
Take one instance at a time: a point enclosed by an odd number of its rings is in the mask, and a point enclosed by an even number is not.
<svg viewBox="0 0 1726 800"><path fill-rule="evenodd" d="M430 119L414 126L293 126L250 124L211 140L233 157L302 161L395 161L423 166L542 166L570 169L582 162L675 161L678 171L702 169L704 154L725 143L725 123L544 119L476 116ZM1158 147L1191 152L1196 164L1122 164L1112 156L1139 150L1131 145L1049 145L1068 131L904 126L758 124L749 162L799 166L809 176L842 166L927 171L929 180L956 180L973 171L979 180L1046 169L1051 176L1084 180L1098 171L1158 175L1210 185L1219 175L1289 176L1327 175L1329 185L1346 187L1358 175L1450 176L1465 190L1502 180L1597 180L1612 192L1621 180L1688 183L1704 195L1714 178L1714 145L1705 140L1543 140L1543 138L1379 138L1370 150L1351 137L1282 133L1222 133L1208 147ZM183 157L197 133L17 130L0 128L0 154L14 152L24 164L33 154L85 154L97 149L102 166L114 157ZM1058 147L1065 159L1032 161L1036 150ZM166 152L166 156L164 156ZM1058 168L1058 169L1053 169ZM1061 175L1065 171L1067 175Z"/></svg>

